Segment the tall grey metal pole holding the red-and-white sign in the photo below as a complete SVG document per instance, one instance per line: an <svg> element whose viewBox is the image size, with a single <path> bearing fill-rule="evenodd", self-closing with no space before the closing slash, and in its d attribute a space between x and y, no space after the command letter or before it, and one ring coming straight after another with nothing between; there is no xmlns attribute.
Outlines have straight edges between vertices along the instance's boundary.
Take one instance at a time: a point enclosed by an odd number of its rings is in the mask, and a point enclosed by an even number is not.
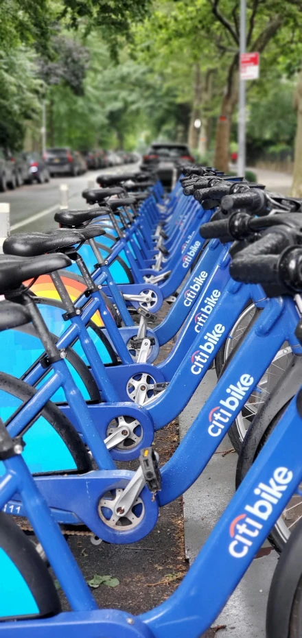
<svg viewBox="0 0 302 638"><path fill-rule="evenodd" d="M246 0L240 0L240 47L239 55L246 51ZM240 78L239 58L239 105L238 105L238 175L244 175L246 165L246 91L245 80Z"/></svg>

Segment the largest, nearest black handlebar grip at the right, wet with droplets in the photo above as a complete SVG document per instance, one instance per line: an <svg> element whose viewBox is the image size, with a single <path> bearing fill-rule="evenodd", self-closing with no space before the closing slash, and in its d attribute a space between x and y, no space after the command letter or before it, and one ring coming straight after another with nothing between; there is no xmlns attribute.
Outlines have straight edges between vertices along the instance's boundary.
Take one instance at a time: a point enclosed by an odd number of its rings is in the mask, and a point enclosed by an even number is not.
<svg viewBox="0 0 302 638"><path fill-rule="evenodd" d="M244 283L277 284L279 254L291 243L290 235L281 227L272 229L255 244L237 253L230 265L231 276Z"/></svg>

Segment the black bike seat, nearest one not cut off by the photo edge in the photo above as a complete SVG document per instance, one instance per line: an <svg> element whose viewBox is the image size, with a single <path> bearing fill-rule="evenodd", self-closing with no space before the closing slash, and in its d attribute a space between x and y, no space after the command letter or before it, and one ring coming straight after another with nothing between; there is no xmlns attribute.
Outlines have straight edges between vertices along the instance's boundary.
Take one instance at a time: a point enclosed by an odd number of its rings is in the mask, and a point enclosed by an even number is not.
<svg viewBox="0 0 302 638"><path fill-rule="evenodd" d="M83 241L81 233L75 230L54 230L45 233L16 233L3 241L5 255L36 257L45 252L54 252Z"/></svg>

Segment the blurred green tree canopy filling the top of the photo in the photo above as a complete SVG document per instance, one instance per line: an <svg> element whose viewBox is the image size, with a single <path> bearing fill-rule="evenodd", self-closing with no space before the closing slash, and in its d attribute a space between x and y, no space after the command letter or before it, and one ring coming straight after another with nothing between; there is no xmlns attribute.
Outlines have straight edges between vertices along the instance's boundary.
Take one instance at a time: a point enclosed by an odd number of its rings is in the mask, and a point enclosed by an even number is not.
<svg viewBox="0 0 302 638"><path fill-rule="evenodd" d="M0 0L0 10L0 144L21 147L31 130L39 145L46 101L49 144L189 140L225 167L237 137L238 2ZM295 0L247 1L247 48L261 52L248 84L253 158L292 152L301 25Z"/></svg>

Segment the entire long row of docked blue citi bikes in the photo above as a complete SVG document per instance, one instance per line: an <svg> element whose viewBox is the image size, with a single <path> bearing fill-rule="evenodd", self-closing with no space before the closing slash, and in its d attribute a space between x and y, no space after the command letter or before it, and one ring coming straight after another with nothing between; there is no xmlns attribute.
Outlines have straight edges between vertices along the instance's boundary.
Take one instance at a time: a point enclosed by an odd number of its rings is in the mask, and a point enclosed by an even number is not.
<svg viewBox="0 0 302 638"><path fill-rule="evenodd" d="M302 200L199 165L170 193L137 171L82 194L0 256L0 636L198 638L268 538L266 635L302 638ZM213 366L163 464L154 433ZM178 589L98 609L68 534L143 539L226 434L237 490Z"/></svg>

